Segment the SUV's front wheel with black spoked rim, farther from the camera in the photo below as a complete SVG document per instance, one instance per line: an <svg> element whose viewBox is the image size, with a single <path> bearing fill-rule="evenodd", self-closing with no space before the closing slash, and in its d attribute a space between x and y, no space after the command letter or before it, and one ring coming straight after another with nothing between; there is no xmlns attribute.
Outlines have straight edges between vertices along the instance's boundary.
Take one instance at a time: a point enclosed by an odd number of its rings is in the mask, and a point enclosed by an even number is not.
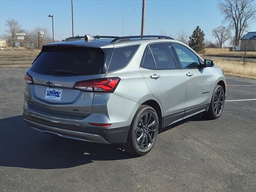
<svg viewBox="0 0 256 192"><path fill-rule="evenodd" d="M222 94L222 96L219 95L220 93ZM219 118L223 112L224 102L225 102L225 92L224 92L222 86L217 85L212 94L212 100L210 103L210 107L209 107L208 111L206 111L204 113L206 118L208 118L208 119ZM217 113L216 113L216 111L217 111Z"/></svg>

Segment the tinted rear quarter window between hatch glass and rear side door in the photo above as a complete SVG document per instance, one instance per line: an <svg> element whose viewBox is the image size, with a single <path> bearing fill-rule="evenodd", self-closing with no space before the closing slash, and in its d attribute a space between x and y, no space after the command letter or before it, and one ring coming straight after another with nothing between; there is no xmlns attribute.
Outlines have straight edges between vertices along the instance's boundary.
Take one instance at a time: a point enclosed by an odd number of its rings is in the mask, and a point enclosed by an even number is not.
<svg viewBox="0 0 256 192"><path fill-rule="evenodd" d="M108 72L125 67L136 52L138 46L139 45L114 48Z"/></svg>

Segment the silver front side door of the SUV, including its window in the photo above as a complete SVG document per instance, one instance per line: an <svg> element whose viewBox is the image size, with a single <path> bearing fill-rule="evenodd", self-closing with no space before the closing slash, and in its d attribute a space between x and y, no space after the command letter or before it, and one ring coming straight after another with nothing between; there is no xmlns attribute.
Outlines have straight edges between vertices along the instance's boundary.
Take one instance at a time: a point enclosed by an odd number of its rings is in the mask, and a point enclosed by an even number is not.
<svg viewBox="0 0 256 192"><path fill-rule="evenodd" d="M208 106L211 79L207 68L200 68L202 63L194 52L181 44L173 43L173 49L180 64L182 75L187 80L185 116L205 110Z"/></svg>

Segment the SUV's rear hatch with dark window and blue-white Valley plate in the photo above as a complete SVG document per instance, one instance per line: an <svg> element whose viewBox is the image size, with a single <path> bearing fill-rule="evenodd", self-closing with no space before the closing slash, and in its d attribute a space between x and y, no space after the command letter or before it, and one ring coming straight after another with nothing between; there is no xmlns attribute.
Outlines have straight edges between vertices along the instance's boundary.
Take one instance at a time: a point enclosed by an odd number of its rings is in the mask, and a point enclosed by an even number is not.
<svg viewBox="0 0 256 192"><path fill-rule="evenodd" d="M94 92L75 89L74 85L104 78L105 60L105 53L100 48L44 46L28 70L33 79L28 106L53 116L90 115Z"/></svg>

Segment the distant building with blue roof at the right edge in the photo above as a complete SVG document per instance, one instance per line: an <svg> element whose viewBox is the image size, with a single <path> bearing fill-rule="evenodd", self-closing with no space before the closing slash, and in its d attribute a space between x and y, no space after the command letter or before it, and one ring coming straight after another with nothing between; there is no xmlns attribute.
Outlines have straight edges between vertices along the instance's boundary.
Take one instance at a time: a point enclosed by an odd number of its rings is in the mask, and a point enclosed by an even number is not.
<svg viewBox="0 0 256 192"><path fill-rule="evenodd" d="M256 51L256 32L248 32L240 38L241 51Z"/></svg>

